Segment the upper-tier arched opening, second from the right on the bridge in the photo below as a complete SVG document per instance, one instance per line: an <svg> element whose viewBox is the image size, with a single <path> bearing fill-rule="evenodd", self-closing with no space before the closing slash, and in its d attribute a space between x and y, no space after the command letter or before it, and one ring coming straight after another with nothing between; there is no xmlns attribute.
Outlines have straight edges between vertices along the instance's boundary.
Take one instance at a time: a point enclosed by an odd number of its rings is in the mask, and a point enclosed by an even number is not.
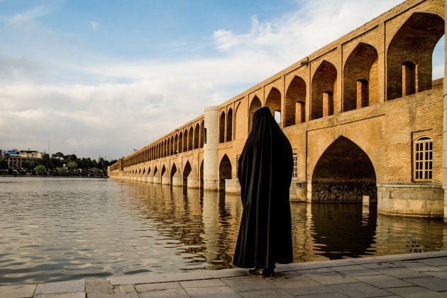
<svg viewBox="0 0 447 298"><path fill-rule="evenodd" d="M372 45L360 42L343 71L343 112L378 103L378 59Z"/></svg>

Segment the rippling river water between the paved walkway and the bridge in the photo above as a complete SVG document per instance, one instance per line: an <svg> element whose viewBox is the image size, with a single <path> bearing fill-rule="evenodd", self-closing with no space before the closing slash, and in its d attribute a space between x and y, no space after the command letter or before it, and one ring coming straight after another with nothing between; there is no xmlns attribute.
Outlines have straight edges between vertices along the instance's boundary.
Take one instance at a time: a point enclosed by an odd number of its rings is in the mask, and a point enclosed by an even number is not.
<svg viewBox="0 0 447 298"><path fill-rule="evenodd" d="M447 224L292 202L294 261L447 249ZM0 285L231 268L240 195L84 178L0 178Z"/></svg>

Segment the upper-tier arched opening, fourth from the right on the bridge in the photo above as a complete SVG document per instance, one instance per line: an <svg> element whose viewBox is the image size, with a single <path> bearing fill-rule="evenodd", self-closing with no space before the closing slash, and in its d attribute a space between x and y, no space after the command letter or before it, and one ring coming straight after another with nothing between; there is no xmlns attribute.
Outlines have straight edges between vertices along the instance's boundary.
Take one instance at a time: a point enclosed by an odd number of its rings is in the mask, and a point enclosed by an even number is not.
<svg viewBox="0 0 447 298"><path fill-rule="evenodd" d="M295 76L287 88L285 98L284 126L295 125L306 121L306 83Z"/></svg>

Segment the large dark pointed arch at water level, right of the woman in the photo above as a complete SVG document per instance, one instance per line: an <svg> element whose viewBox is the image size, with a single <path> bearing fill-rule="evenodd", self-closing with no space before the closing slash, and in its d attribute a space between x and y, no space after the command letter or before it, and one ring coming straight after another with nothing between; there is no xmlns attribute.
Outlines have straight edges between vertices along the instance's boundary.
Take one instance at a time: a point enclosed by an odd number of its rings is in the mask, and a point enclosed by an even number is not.
<svg viewBox="0 0 447 298"><path fill-rule="evenodd" d="M312 202L377 202L376 176L368 154L338 137L320 156L312 174Z"/></svg>

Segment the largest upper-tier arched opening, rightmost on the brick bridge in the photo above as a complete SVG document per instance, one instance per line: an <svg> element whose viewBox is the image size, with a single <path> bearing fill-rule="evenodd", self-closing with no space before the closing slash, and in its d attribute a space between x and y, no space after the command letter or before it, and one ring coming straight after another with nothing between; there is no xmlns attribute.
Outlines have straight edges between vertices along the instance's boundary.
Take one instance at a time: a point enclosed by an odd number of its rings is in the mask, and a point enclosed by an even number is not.
<svg viewBox="0 0 447 298"><path fill-rule="evenodd" d="M431 89L431 59L443 34L444 20L434 13L413 13L397 30L387 50L387 101Z"/></svg>

